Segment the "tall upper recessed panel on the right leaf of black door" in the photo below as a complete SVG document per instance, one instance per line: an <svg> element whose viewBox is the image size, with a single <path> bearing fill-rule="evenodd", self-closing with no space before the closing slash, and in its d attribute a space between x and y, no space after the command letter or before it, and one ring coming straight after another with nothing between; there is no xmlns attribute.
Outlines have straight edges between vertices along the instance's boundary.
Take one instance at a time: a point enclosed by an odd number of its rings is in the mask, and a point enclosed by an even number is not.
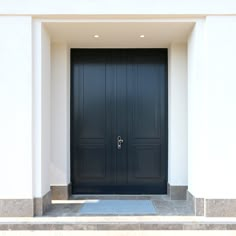
<svg viewBox="0 0 236 236"><path fill-rule="evenodd" d="M130 94L135 138L160 138L160 78L156 64L135 65Z"/></svg>

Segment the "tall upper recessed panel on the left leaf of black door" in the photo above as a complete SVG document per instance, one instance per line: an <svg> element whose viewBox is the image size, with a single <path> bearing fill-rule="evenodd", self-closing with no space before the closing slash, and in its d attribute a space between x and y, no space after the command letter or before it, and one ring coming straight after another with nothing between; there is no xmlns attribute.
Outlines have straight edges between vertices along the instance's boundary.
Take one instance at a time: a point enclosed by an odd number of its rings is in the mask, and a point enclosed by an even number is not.
<svg viewBox="0 0 236 236"><path fill-rule="evenodd" d="M106 68L103 64L83 66L80 138L106 136ZM92 96L91 96L92 95Z"/></svg>

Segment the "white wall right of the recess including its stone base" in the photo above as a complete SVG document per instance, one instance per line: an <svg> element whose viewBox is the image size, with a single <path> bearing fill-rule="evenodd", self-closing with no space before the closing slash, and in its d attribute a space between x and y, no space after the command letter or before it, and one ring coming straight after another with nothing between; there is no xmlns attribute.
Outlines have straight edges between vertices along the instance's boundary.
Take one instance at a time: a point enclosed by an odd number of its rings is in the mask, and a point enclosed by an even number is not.
<svg viewBox="0 0 236 236"><path fill-rule="evenodd" d="M189 38L189 191L206 216L236 216L235 42L235 16L207 17Z"/></svg>

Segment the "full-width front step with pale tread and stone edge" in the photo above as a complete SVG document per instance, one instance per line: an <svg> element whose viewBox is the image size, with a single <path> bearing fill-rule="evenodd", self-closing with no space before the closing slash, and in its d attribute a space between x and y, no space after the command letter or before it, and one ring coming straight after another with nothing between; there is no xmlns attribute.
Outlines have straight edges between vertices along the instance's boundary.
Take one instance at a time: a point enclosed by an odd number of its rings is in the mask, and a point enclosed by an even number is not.
<svg viewBox="0 0 236 236"><path fill-rule="evenodd" d="M236 230L236 218L196 216L0 218L0 230Z"/></svg>

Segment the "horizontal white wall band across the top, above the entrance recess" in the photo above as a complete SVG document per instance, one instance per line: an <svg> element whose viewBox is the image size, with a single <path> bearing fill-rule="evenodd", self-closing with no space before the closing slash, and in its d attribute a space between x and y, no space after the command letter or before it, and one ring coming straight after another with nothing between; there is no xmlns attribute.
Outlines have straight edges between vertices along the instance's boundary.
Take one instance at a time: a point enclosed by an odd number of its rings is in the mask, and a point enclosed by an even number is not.
<svg viewBox="0 0 236 236"><path fill-rule="evenodd" d="M235 14L235 0L0 0L0 14Z"/></svg>

